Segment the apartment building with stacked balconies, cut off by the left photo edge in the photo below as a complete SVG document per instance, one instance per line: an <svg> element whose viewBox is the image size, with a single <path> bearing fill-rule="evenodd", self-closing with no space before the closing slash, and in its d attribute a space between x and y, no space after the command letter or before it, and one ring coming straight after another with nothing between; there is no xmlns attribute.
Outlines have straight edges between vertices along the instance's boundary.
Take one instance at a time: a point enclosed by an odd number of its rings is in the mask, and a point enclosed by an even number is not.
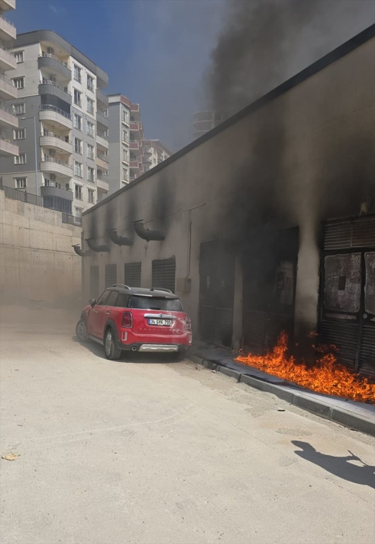
<svg viewBox="0 0 375 544"><path fill-rule="evenodd" d="M19 120L7 106L8 100L17 98L17 82L10 79L19 61L11 48L16 39L16 28L4 13L16 9L16 0L0 0L0 159L14 160L19 156L19 148L13 141L13 131L19 127ZM9 73L10 72L10 73ZM1 174L0 166L0 174Z"/></svg>

